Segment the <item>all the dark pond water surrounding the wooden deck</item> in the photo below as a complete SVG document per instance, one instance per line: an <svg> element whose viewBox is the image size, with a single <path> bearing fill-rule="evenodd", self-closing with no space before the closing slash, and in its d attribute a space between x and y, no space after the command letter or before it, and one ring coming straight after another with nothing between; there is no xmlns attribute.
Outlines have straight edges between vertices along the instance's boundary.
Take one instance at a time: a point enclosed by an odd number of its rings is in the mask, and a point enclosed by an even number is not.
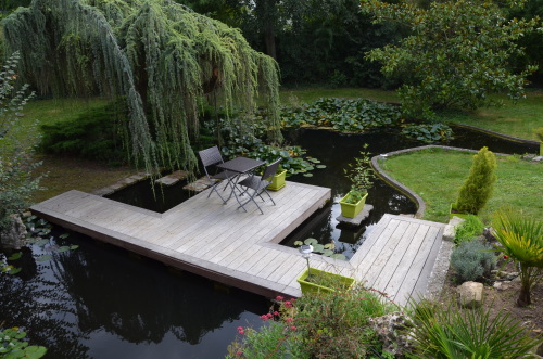
<svg viewBox="0 0 543 359"><path fill-rule="evenodd" d="M459 134L455 140L458 142L451 145L479 149L489 143L484 134ZM327 165L326 169L315 170L313 177L295 176L291 180L330 187L333 198L287 242L296 236L315 236L323 242L334 241L341 252L352 255L366 228L382 214L415 211L404 195L377 181L368 197L375 209L363 226L350 230L334 219L339 216L337 202L349 190L343 168L364 143L379 154L419 142L395 132L339 134L300 130L287 133L287 138ZM536 151L512 145L506 149L509 143L502 140L502 144L490 149L506 153ZM166 198L174 196L166 193ZM0 275L0 322L23 326L31 343L49 348L47 358L220 358L235 338L236 328L258 328L258 316L269 308L261 296L222 287L187 272L172 272L162 264L77 233L60 240L61 233L53 230L54 238L47 244L25 248L23 258L13 262L23 268L20 273ZM53 253L47 261L36 260L65 241L79 248Z"/></svg>

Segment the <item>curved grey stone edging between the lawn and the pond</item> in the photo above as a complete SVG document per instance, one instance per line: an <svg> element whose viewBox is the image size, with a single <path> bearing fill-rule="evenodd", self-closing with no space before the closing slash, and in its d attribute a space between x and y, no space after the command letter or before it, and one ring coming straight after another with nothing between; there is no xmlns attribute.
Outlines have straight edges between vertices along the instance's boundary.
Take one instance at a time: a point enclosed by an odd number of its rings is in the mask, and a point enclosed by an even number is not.
<svg viewBox="0 0 543 359"><path fill-rule="evenodd" d="M388 182L390 185L405 194L407 197L409 197L415 204L417 205L417 211L415 213L415 218L421 218L422 215L425 214L426 210L426 203L422 201L422 198L415 193L412 189L400 183L389 175L384 172L384 170L379 166L379 158L387 158L390 156L396 156L401 155L404 153L408 152L415 152L415 151L421 151L421 150L428 150L428 149L442 149L442 150L450 150L450 151L460 151L460 152L471 152L471 153L478 153L479 150L471 150L471 149L462 149L462 148L453 148L449 145L438 145L438 144L429 144L429 145L424 145L424 146L418 146L418 148L411 148L411 149L404 149L404 150L399 150L399 151L393 151L384 154L380 154L377 156L371 157L371 167L376 170L377 175ZM494 153L497 156L510 156L509 154L504 154L504 153Z"/></svg>

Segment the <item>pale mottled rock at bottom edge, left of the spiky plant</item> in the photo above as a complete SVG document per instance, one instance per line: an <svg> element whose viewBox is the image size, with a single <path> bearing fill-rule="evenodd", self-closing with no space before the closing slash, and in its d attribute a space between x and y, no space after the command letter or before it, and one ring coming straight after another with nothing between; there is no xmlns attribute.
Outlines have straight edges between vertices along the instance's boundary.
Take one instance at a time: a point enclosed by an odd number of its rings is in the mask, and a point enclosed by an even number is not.
<svg viewBox="0 0 543 359"><path fill-rule="evenodd" d="M405 313L394 311L383 317L369 319L369 321L383 343L383 351L402 358L404 352L413 348L413 337L406 331L413 326L413 323Z"/></svg>

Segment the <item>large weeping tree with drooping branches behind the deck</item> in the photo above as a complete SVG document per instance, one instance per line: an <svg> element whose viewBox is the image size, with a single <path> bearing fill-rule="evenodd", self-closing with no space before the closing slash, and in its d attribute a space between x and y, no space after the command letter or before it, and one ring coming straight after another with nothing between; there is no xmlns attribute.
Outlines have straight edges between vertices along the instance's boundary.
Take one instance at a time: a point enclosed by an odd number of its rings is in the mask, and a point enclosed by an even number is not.
<svg viewBox="0 0 543 359"><path fill-rule="evenodd" d="M241 33L171 0L33 0L2 22L7 53L43 93L126 98L130 157L193 170L202 99L218 99L230 125L251 131L256 101L280 142L278 67Z"/></svg>

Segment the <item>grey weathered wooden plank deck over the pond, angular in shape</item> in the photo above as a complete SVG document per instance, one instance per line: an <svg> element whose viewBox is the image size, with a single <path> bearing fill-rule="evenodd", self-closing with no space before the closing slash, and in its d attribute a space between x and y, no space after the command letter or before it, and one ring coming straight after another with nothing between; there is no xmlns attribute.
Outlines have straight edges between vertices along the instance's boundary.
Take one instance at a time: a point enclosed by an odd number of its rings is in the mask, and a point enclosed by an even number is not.
<svg viewBox="0 0 543 359"><path fill-rule="evenodd" d="M47 220L166 265L267 297L300 296L298 249L278 244L329 201L330 190L288 182L264 215L204 191L164 214L68 191L31 211ZM386 215L350 261L313 256L312 267L364 281L399 304L424 294L444 225Z"/></svg>

